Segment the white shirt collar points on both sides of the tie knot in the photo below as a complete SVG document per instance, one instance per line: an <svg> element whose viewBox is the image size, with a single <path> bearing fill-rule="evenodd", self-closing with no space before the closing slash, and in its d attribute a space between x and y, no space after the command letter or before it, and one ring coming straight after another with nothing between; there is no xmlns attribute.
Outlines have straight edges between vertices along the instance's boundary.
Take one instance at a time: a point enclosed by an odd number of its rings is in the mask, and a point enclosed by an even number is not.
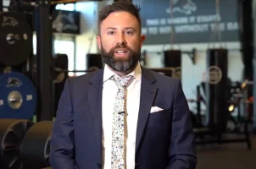
<svg viewBox="0 0 256 169"><path fill-rule="evenodd" d="M103 73L103 82L110 79L113 75L115 75L114 72L109 69L109 66L107 64L105 64L104 73ZM138 62L136 65L136 68L130 74L127 74L127 75L132 75L135 77L135 79L141 79L142 78L141 64Z"/></svg>

